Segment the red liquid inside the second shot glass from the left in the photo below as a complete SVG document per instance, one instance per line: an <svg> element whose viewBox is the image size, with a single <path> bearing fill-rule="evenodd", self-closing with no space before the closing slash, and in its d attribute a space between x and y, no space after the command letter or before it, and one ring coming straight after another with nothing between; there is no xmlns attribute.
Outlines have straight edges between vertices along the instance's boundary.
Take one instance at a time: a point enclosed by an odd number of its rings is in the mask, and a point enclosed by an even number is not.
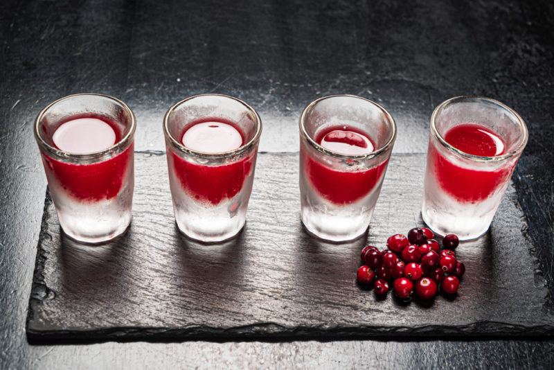
<svg viewBox="0 0 554 370"><path fill-rule="evenodd" d="M235 124L209 119L186 127L181 142L187 148L206 153L228 152L244 144L244 135ZM172 152L175 175L181 186L200 202L220 204L237 195L252 170L252 157L231 164L195 164Z"/></svg>

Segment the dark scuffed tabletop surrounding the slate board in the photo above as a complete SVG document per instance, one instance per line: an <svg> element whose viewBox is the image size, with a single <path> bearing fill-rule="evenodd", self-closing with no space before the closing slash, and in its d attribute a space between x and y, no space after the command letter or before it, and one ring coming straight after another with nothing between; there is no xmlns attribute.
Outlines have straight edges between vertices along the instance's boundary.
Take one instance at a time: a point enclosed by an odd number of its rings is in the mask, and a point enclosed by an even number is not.
<svg viewBox="0 0 554 370"><path fill-rule="evenodd" d="M265 152L298 150L298 115L319 96L382 103L397 153L425 152L441 101L491 96L528 123L514 180L530 238L553 245L552 19L550 1L1 1L0 368L553 367L553 340L30 346L25 335L46 188L33 119L77 92L128 103L136 150L164 149L177 100L231 94L262 116ZM539 270L554 256L541 250Z"/></svg>

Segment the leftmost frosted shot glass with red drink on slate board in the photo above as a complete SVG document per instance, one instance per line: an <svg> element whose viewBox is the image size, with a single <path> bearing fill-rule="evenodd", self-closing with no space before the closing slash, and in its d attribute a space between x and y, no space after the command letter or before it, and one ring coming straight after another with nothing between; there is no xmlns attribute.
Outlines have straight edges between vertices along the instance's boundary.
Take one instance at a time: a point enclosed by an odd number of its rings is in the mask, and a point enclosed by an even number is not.
<svg viewBox="0 0 554 370"><path fill-rule="evenodd" d="M64 123L96 118L107 123L115 143L105 150L64 151L55 132ZM66 96L48 105L35 121L48 191L65 234L101 243L122 234L131 222L134 188L134 114L122 101L100 94ZM108 128L109 130L109 128ZM96 135L90 130L89 140ZM75 154L78 152L78 154Z"/></svg>

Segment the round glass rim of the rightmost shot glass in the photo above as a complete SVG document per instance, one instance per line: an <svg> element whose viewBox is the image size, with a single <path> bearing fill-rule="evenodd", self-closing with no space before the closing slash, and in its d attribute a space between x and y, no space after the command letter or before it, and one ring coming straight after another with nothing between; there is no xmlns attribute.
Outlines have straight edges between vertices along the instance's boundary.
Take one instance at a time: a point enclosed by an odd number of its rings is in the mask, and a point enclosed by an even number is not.
<svg viewBox="0 0 554 370"><path fill-rule="evenodd" d="M476 100L476 101L481 100L481 101L485 101L485 102L488 102L488 103L492 103L492 104L497 105L498 107L501 107L502 109L506 110L508 113L512 114L513 116L515 116L519 127L521 127L521 130L523 131L523 134L521 135L521 138L519 139L519 143L518 143L517 147L514 150L512 150L512 151L510 151L506 154L503 154L503 155L496 155L496 156L492 156L492 157L486 157L486 156L480 156L480 155L471 155L469 153L463 152L462 150L459 150L459 149L455 148L454 146L450 145L445 140L443 135L441 135L438 132L438 129L436 127L436 118L437 118L438 114L447 105L450 105L450 104L453 104L453 103L459 103L459 102L465 101L465 100ZM438 139L438 141L440 142L440 144L442 144L442 146L447 148L449 151L453 152L455 155L459 155L460 157L463 157L465 159L471 159L472 161L480 161L480 162L494 161L494 162L498 162L498 161L505 161L506 159L510 159L512 157L515 157L516 155L519 155L519 154L521 154L521 152L523 152L523 150L524 150L524 148L527 144L528 138L529 138L529 132L528 132L527 125L526 125L524 119L521 118L521 116L519 116L519 114L517 112L515 112L514 109L508 107L508 105L506 105L504 103L501 103L499 100L496 100L496 99L493 99L493 98L487 98L485 96L462 95L462 96L454 96L454 98L449 98L449 99L443 101L443 103L440 103L439 105L437 105L437 107L433 110L433 113L431 114L430 123L431 123L431 134L433 134L434 137L436 137Z"/></svg>

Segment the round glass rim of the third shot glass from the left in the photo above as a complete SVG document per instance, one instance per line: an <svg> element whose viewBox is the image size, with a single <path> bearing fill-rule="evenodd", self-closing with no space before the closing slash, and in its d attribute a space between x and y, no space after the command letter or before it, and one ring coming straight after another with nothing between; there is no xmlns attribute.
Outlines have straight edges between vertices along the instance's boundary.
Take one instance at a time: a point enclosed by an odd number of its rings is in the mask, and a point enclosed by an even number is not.
<svg viewBox="0 0 554 370"><path fill-rule="evenodd" d="M391 123L391 130L392 130L391 137L388 139L388 141L386 141L386 143L384 143L384 145L381 148L364 155L345 155L339 152L335 152L334 150L323 148L323 146L319 145L319 143L317 143L312 138L312 136L310 136L310 134L307 133L307 130L305 127L305 121L307 118L307 114L311 109L313 109L313 107L317 103L320 103L322 100L326 100L330 98L354 98L354 99L364 100L366 103L375 105L375 107L377 107L377 109L379 109L379 111L381 111L384 114L384 116L388 119L388 121ZM316 100L312 101L312 103L308 104L304 108L300 116L300 119L298 120L298 125L300 127L300 132L302 136L304 136L305 139L307 139L307 142L310 143L310 145L313 148L315 148L319 152L322 152L325 155L330 155L331 157L336 157L341 159L372 159L372 158L378 157L379 155L381 155L383 152L386 152L389 148L391 148L394 145L394 142L396 139L396 132L397 132L396 121L394 120L393 116L390 113L388 113L388 111L384 109L384 107L382 107L382 105L375 103L373 100L369 100L366 98L362 98L361 96L351 95L351 94L334 94L334 95L322 96L321 98L317 98Z"/></svg>

